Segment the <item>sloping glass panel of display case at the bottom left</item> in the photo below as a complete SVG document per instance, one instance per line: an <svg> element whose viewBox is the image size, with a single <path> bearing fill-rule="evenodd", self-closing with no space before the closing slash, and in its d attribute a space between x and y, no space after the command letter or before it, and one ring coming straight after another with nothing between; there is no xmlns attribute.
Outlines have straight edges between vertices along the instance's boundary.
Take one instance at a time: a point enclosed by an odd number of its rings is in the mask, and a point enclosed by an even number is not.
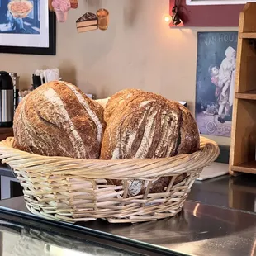
<svg viewBox="0 0 256 256"><path fill-rule="evenodd" d="M140 255L6 220L0 220L0 249L5 256Z"/></svg>

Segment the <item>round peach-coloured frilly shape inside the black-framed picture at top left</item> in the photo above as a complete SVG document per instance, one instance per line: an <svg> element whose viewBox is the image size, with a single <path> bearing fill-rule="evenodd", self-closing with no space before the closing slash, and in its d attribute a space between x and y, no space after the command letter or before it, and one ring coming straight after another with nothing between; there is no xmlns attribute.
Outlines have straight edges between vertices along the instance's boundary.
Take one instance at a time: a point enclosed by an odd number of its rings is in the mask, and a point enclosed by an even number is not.
<svg viewBox="0 0 256 256"><path fill-rule="evenodd" d="M12 0L8 9L15 18L25 18L33 9L33 4L27 0Z"/></svg>

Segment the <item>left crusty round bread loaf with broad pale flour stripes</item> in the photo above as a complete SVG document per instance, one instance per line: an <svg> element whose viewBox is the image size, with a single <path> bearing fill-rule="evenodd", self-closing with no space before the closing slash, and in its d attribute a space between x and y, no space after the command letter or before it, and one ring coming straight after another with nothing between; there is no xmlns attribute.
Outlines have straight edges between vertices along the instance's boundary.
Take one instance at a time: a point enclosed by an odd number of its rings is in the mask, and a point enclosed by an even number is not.
<svg viewBox="0 0 256 256"><path fill-rule="evenodd" d="M45 83L17 107L14 147L35 154L98 159L106 126L103 112L73 84Z"/></svg>

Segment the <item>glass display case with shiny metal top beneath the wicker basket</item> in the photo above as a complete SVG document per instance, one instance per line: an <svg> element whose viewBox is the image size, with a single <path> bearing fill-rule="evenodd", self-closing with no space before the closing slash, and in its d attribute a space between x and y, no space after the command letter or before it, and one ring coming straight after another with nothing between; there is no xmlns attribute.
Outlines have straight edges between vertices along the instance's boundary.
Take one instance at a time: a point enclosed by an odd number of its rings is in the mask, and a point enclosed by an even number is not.
<svg viewBox="0 0 256 256"><path fill-rule="evenodd" d="M195 201L186 201L173 218L137 224L69 224L32 215L23 197L0 201L4 256L256 256L255 230L254 212Z"/></svg>

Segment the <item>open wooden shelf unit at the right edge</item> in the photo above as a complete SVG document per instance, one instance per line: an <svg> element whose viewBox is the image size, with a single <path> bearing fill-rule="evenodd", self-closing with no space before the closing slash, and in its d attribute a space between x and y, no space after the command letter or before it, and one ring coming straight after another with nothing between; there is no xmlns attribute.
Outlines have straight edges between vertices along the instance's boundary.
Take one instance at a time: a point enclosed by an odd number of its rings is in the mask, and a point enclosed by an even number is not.
<svg viewBox="0 0 256 256"><path fill-rule="evenodd" d="M230 174L256 173L256 3L239 17Z"/></svg>

